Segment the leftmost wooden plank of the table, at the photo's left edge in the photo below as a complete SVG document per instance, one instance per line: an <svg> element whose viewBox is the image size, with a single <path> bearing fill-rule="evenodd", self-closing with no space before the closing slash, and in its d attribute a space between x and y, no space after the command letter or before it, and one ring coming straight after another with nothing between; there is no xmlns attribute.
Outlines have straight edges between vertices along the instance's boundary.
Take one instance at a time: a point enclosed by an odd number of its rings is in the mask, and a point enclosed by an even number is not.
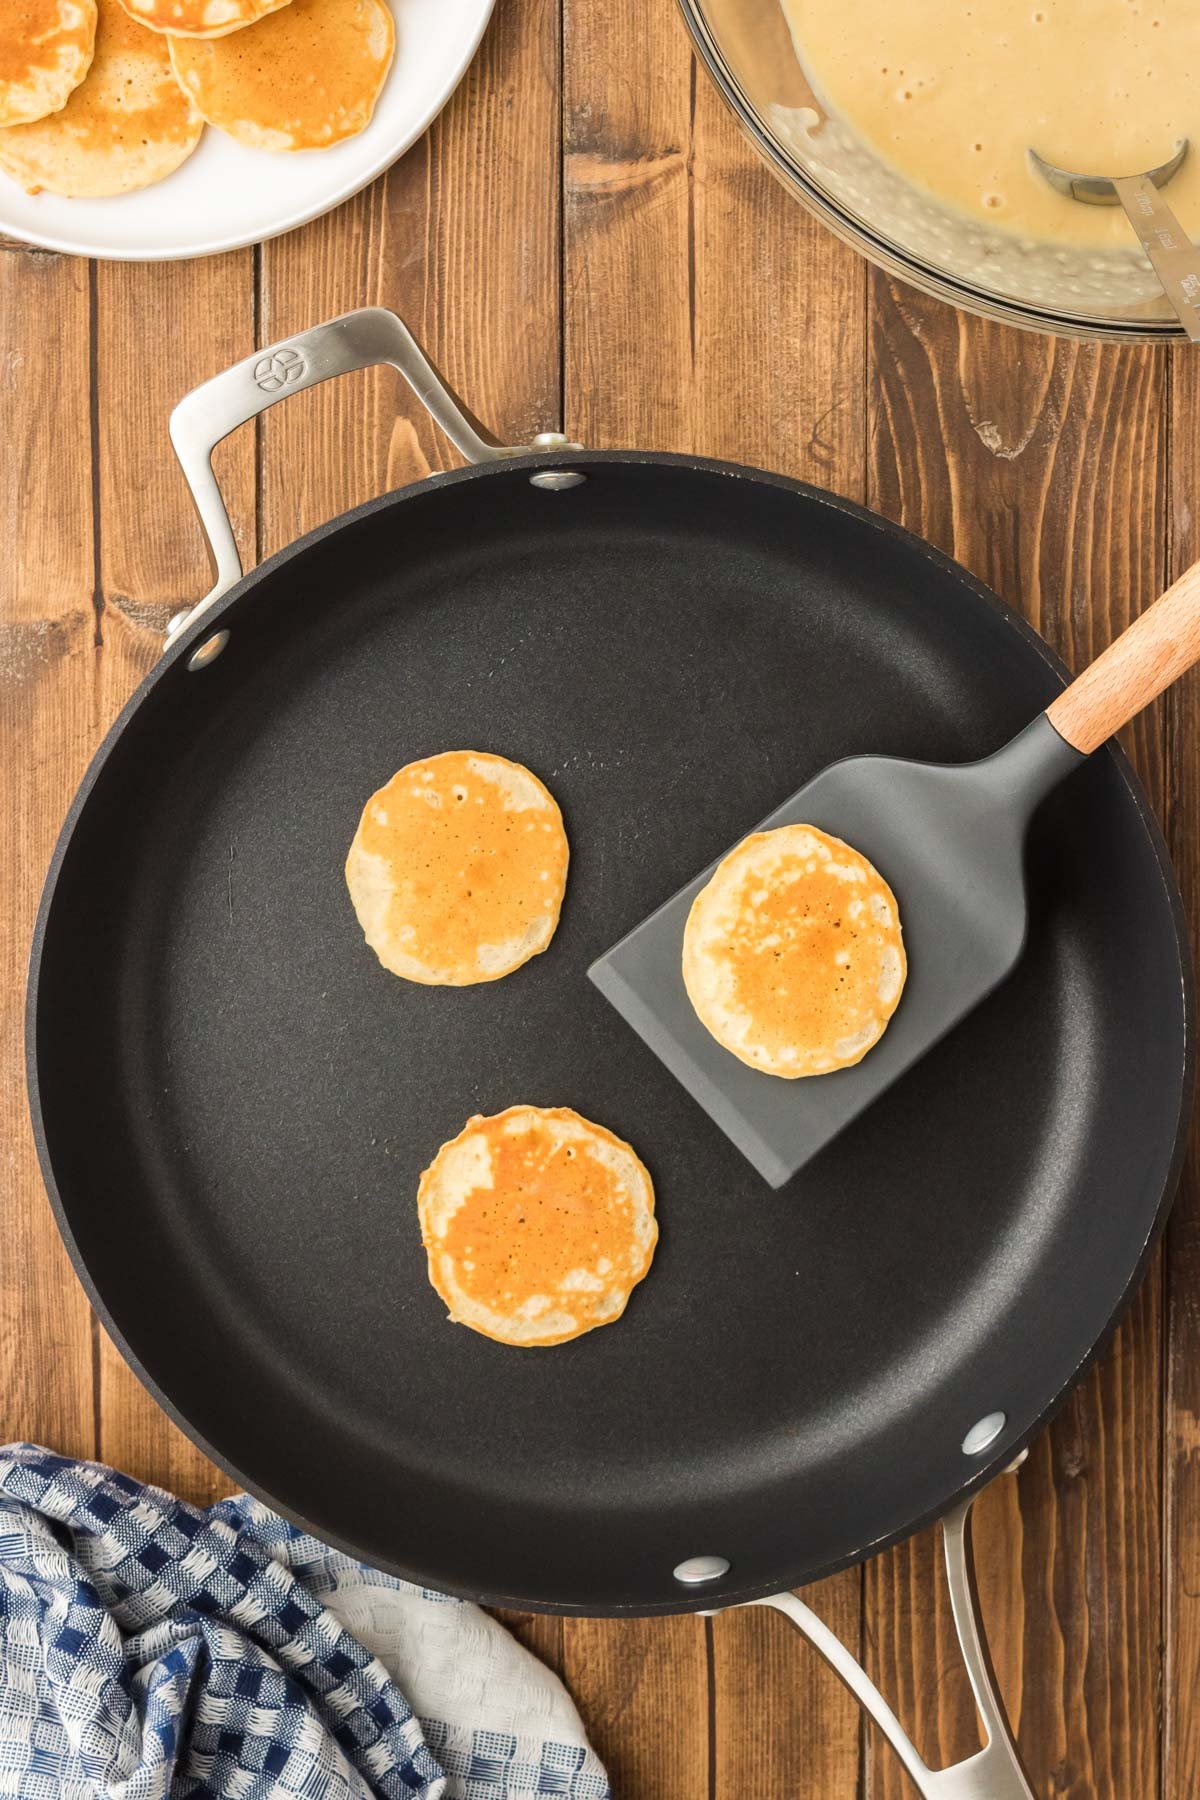
<svg viewBox="0 0 1200 1800"><path fill-rule="evenodd" d="M22 1031L41 877L95 722L86 265L0 256L0 1408L5 1438L90 1456L92 1316L38 1174Z"/></svg>

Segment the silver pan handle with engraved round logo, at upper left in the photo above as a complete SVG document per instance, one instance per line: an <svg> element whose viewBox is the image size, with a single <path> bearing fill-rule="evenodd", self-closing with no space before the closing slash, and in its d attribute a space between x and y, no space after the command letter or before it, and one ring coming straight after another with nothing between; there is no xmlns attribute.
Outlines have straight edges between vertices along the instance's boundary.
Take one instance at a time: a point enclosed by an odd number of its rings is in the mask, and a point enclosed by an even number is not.
<svg viewBox="0 0 1200 1800"><path fill-rule="evenodd" d="M543 432L533 445L502 445L473 418L437 373L412 331L385 306L363 306L268 349L236 362L223 374L194 387L171 414L171 443L191 488L200 524L212 556L216 583L189 612L176 614L167 628L173 639L194 625L241 580L241 556L225 500L212 473L212 450L232 430L266 412L277 400L327 382L351 369L387 362L399 369L408 387L468 463L497 463L529 450L578 450L560 432Z"/></svg>

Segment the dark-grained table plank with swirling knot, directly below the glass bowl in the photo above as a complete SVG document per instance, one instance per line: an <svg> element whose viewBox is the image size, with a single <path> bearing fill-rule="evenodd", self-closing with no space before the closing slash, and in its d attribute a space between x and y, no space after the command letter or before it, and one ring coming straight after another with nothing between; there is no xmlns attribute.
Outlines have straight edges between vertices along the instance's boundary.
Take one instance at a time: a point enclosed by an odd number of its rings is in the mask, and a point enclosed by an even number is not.
<svg viewBox="0 0 1200 1800"><path fill-rule="evenodd" d="M871 504L955 554L1076 666L1160 592L1164 365L959 317L873 277ZM1164 792L1162 709L1124 742ZM975 1561L1034 1791L1157 1796L1159 1276L1025 1469ZM867 1564L869 1667L934 1766L979 1742L934 1534ZM900 1800L880 1750L867 1795Z"/></svg>

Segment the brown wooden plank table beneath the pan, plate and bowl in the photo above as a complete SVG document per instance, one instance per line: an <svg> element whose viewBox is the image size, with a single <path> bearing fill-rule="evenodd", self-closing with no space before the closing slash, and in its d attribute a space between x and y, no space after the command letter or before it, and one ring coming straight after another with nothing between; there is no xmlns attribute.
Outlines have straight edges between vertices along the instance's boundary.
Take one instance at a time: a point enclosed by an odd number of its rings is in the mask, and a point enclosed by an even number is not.
<svg viewBox="0 0 1200 1800"><path fill-rule="evenodd" d="M0 252L5 877L0 1435L193 1499L223 1478L128 1373L59 1246L25 1116L23 965L70 792L207 562L166 419L193 383L351 306L396 308L507 441L698 450L865 500L1092 657L1200 553L1200 362L964 319L774 185L671 0L500 0L471 76L383 180L290 238L121 266ZM390 373L291 400L219 455L243 556L453 461ZM1130 749L1200 907L1200 682ZM1195 1157L1103 1363L984 1498L981 1580L1038 1795L1200 1791ZM963 1204L970 1206L970 1193ZM973 1744L927 1532L813 1604L927 1759ZM626 1800L891 1800L891 1753L777 1618L529 1618Z"/></svg>

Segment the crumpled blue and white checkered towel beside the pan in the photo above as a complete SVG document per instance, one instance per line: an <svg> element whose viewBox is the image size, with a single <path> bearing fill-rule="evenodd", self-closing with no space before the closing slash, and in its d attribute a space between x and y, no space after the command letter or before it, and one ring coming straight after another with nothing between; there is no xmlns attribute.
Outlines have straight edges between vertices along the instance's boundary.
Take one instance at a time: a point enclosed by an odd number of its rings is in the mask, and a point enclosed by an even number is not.
<svg viewBox="0 0 1200 1800"><path fill-rule="evenodd" d="M0 1795L608 1800L556 1678L479 1607L236 1494L0 1449Z"/></svg>

